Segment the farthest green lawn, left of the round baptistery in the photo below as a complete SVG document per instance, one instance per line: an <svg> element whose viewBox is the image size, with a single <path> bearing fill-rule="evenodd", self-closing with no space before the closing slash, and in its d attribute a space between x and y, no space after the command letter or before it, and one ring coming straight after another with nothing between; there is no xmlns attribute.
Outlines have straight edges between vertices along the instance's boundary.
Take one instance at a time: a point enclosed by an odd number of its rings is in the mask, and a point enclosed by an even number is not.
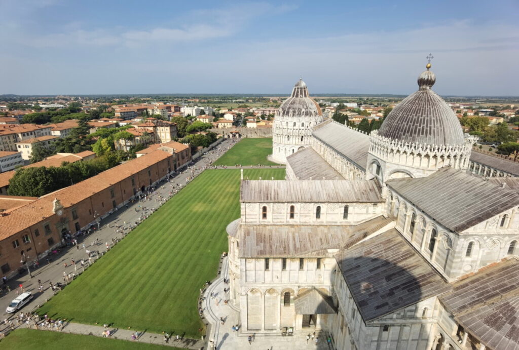
<svg viewBox="0 0 519 350"><path fill-rule="evenodd" d="M267 160L272 154L272 138L243 138L229 149L214 165L278 165Z"/></svg>

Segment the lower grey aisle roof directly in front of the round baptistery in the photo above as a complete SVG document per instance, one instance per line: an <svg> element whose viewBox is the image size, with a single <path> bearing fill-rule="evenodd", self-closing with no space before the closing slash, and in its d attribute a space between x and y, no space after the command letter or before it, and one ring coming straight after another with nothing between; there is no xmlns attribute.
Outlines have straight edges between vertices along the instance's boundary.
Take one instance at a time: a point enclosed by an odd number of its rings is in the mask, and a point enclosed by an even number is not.
<svg viewBox="0 0 519 350"><path fill-rule="evenodd" d="M305 147L286 157L288 164L298 180L343 180L344 177L328 164L311 147Z"/></svg>

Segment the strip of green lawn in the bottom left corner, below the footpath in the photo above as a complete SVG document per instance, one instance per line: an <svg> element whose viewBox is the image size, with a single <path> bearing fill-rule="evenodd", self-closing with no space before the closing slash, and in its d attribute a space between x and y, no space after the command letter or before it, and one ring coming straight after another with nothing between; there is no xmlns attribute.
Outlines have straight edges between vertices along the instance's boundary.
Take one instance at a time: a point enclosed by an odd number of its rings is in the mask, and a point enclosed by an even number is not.
<svg viewBox="0 0 519 350"><path fill-rule="evenodd" d="M164 347L146 343L134 343L131 341L92 337L92 335L79 335L43 331L35 329L17 329L9 333L2 341L0 347L4 349L130 349L130 350L161 350L177 347Z"/></svg>

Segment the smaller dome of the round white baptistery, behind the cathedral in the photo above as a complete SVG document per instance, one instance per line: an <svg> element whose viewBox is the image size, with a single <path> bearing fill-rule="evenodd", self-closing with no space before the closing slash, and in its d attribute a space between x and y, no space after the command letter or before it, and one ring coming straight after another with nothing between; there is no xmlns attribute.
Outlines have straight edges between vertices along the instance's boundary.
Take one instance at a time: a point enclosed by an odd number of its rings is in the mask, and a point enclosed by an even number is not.
<svg viewBox="0 0 519 350"><path fill-rule="evenodd" d="M276 117L318 117L322 116L319 105L310 98L303 79L299 79L292 89L292 95L278 109Z"/></svg>

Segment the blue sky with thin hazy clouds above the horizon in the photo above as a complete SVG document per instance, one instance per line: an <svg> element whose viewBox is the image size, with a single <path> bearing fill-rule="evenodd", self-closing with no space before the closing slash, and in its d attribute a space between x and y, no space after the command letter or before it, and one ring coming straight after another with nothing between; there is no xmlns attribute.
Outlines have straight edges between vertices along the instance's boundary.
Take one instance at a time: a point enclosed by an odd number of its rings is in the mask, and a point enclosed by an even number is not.
<svg viewBox="0 0 519 350"><path fill-rule="evenodd" d="M519 96L519 1L0 0L0 94Z"/></svg>

